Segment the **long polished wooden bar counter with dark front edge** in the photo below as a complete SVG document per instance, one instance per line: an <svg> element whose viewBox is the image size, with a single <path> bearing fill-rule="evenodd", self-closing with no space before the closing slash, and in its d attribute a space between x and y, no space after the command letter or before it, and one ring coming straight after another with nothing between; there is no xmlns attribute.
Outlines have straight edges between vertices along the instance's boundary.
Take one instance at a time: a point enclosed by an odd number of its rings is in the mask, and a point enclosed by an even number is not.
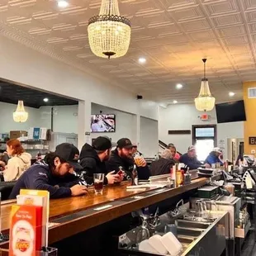
<svg viewBox="0 0 256 256"><path fill-rule="evenodd" d="M50 200L49 244L76 235L97 225L106 223L131 211L153 205L159 201L178 196L206 184L206 178L197 178L191 184L177 188L145 189L127 191L128 183L104 187L102 195L93 189L84 197ZM2 231L9 229L9 216L13 201L2 201Z"/></svg>

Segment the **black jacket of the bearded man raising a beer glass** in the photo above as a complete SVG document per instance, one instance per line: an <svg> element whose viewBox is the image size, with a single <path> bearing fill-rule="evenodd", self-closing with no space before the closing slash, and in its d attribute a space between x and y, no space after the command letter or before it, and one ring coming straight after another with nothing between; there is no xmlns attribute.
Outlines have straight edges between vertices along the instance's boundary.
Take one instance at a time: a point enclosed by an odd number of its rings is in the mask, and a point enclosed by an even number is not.
<svg viewBox="0 0 256 256"><path fill-rule="evenodd" d="M131 172L134 168L135 161L134 159L125 159L121 158L117 152L117 149L112 151L111 158L107 161L107 172L116 171L116 173L122 168L126 172L125 180L131 179ZM138 167L138 178L139 179L148 179L150 176L149 167L146 165L145 167Z"/></svg>

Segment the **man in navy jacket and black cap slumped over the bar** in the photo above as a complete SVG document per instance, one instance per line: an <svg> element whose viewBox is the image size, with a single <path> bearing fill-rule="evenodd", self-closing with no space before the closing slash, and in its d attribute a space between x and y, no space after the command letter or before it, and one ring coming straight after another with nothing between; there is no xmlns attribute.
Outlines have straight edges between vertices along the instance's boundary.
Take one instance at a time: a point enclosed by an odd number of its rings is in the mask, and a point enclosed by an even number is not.
<svg viewBox="0 0 256 256"><path fill-rule="evenodd" d="M74 168L82 168L78 164L78 158L79 150L74 145L58 145L55 153L47 154L45 161L32 165L21 175L9 198L15 199L22 188L47 190L50 192L50 198L87 194L87 187L80 185L81 180L70 174Z"/></svg>

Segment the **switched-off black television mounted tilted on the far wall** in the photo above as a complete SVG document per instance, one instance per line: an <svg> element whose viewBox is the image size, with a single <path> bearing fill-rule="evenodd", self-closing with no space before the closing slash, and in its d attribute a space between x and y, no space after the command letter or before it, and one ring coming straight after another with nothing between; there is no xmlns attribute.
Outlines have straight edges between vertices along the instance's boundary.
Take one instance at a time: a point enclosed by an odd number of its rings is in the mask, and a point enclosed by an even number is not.
<svg viewBox="0 0 256 256"><path fill-rule="evenodd" d="M246 121L244 101L216 104L216 116L218 123Z"/></svg>

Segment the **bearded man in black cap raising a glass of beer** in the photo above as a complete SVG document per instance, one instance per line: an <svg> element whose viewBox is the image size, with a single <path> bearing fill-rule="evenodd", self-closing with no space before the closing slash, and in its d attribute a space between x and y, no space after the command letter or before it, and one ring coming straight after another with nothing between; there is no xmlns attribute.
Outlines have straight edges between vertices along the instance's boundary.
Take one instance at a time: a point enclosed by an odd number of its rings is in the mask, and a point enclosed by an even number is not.
<svg viewBox="0 0 256 256"><path fill-rule="evenodd" d="M135 159L132 156L133 145L127 138L122 138L117 141L117 146L114 151L112 151L111 157L107 162L108 172L119 170L125 171L125 179L130 180L132 177L132 170L135 165ZM145 159L140 157L136 160L136 167L139 179L148 179L150 176L149 167Z"/></svg>

